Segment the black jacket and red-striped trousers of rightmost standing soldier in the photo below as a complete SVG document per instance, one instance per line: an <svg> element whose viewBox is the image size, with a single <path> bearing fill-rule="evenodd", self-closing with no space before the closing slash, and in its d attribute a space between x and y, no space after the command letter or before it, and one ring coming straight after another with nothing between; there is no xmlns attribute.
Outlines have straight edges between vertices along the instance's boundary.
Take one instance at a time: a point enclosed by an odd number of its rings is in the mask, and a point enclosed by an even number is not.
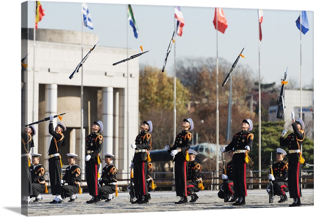
<svg viewBox="0 0 314 217"><path fill-rule="evenodd" d="M287 146L288 150L300 150L302 141L305 137L303 130L298 130L297 122L291 124L293 133L290 133L286 138L280 137L279 144L281 147ZM289 153L288 152L288 185L290 198L300 198L301 193L301 171L302 164L300 163L301 152Z"/></svg>

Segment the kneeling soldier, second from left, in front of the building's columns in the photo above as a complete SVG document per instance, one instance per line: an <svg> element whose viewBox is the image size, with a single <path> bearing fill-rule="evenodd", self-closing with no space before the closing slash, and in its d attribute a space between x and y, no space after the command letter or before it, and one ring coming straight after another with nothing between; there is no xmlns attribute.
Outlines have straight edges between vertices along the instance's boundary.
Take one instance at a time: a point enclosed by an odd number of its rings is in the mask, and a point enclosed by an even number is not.
<svg viewBox="0 0 314 217"><path fill-rule="evenodd" d="M62 177L61 183L67 185L62 185L61 187L61 197L64 200L70 197L68 202L74 202L78 197L77 193L81 192L81 168L75 163L77 159L77 154L69 153L68 163L69 166L65 170L64 176Z"/></svg>

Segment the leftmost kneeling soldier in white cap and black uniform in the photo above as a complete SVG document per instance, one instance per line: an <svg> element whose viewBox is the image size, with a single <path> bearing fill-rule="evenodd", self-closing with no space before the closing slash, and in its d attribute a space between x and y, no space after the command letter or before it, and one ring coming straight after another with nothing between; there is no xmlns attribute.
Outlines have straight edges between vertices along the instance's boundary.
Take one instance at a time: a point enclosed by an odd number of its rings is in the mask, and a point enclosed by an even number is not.
<svg viewBox="0 0 314 217"><path fill-rule="evenodd" d="M32 155L32 166L30 166L30 171L32 175L32 190L33 195L30 198L35 197L33 202L39 202L42 200L41 193L48 193L45 181L45 167L39 163L41 154L31 153Z"/></svg>

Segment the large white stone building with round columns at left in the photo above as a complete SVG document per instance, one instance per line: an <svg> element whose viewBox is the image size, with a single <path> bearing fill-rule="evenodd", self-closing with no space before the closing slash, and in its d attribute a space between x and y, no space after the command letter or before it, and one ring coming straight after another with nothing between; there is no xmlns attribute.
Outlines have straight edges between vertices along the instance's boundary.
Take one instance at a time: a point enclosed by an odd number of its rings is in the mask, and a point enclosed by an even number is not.
<svg viewBox="0 0 314 217"><path fill-rule="evenodd" d="M22 28L21 31L21 57L29 53L24 62L28 66L21 70L21 129L28 123L70 111L62 118L62 123L67 127L64 133L66 145L61 152L62 162L67 163L66 153L78 154L77 163L84 174L85 137L90 133L91 124L101 120L104 143L100 159L104 161L105 152L115 155L113 163L120 173L125 173L119 178L126 179L134 152L129 151L129 143L139 130L139 62L135 58L116 66L112 64L138 51L129 50L127 53L126 48L97 45L78 73L69 79L78 63L99 41L98 35L37 29L34 43L34 29ZM59 119L55 118L54 126L57 121ZM51 140L48 125L49 121L36 125L35 147L31 150L42 154L41 162L47 169Z"/></svg>

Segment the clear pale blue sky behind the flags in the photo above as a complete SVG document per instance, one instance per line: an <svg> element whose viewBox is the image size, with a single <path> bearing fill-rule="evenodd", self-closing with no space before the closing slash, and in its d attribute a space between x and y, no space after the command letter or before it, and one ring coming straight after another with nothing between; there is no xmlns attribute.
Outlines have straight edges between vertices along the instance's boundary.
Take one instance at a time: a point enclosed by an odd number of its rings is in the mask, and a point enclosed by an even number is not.
<svg viewBox="0 0 314 217"><path fill-rule="evenodd" d="M93 30L85 26L82 28L81 3L41 1L46 15L39 22L38 28L83 30L84 32L95 33L99 35L99 46L128 46L140 52L140 46L142 45L144 51L151 51L138 57L140 64L156 66L161 70L165 53L176 26L174 6L143 5L144 3L147 4L143 1L132 2L134 2L132 8L139 29L137 39L134 37L133 29L127 21L127 4L116 4L116 1L113 4L113 1L108 0L87 1ZM179 1L173 2L178 3ZM171 5L171 1L168 4ZM217 37L217 31L213 24L214 6L210 4L194 5L196 6L189 6L186 1L178 5L181 6L185 25L182 36L176 35L176 43L173 44L168 57L165 70L169 75L173 75L174 72L175 56L176 59L181 57L216 58L218 41L218 57L226 59L230 62L230 65L236 60L236 57L245 46L242 54L246 58L241 58L238 65L251 68L256 79L258 78L260 65L262 83L276 82L276 84L280 84L288 67L288 82L299 87L300 72L302 71L302 86L313 86L313 11L307 9L307 7L300 7L307 10L310 25L310 30L305 35L300 35L300 30L295 24L295 20L300 15L300 10L265 9L269 7L263 7L263 5L249 7L249 4L246 5L247 8L255 9L239 9L227 4L223 7L223 10L228 27L225 34L218 32ZM199 5L205 5L206 7L200 7ZM281 9L287 9L288 7L282 5ZM263 9L263 38L260 45L256 8ZM297 7L293 8L297 9ZM32 1L29 2L28 12L28 27L33 28L34 2ZM300 48L301 44L302 47ZM302 50L302 53L300 50ZM302 62L300 62L300 57L302 57ZM236 73L236 69L234 73Z"/></svg>

